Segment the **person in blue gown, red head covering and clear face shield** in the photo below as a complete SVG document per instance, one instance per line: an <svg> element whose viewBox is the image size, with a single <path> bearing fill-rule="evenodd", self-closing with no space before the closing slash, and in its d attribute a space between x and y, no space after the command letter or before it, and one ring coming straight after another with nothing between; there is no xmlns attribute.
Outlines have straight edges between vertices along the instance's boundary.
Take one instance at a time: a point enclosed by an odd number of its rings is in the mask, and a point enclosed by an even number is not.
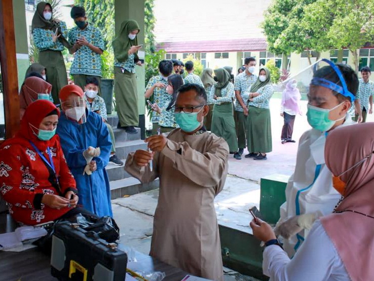
<svg viewBox="0 0 374 281"><path fill-rule="evenodd" d="M86 109L84 95L77 85L61 89L62 113L56 132L77 182L79 204L99 217L113 216L105 170L111 149L109 132L100 115Z"/></svg>

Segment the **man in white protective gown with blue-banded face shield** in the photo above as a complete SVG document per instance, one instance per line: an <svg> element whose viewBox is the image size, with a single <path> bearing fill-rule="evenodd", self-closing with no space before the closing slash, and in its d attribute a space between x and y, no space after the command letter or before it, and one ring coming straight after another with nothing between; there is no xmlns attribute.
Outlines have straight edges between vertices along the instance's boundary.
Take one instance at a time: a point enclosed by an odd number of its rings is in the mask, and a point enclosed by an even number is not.
<svg viewBox="0 0 374 281"><path fill-rule="evenodd" d="M284 249L292 257L313 222L330 214L341 195L332 187L332 174L325 165L326 136L336 127L354 124L347 112L355 100L358 78L345 64L322 59L292 77L301 92L308 91L308 123L299 141L296 166L286 187L286 202L280 207L276 234L285 238ZM309 82L309 83L308 83ZM286 240L288 239L288 240Z"/></svg>

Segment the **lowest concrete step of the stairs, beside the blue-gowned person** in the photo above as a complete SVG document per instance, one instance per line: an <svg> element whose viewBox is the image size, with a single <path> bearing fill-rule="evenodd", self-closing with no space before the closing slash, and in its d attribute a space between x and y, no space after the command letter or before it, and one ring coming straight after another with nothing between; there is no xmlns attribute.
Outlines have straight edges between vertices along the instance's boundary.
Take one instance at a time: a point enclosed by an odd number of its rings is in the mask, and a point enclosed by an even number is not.
<svg viewBox="0 0 374 281"><path fill-rule="evenodd" d="M130 177L122 180L111 181L110 196L111 199L123 197L124 195L134 195L140 192L145 192L159 188L159 179L147 184L140 183L139 180Z"/></svg>

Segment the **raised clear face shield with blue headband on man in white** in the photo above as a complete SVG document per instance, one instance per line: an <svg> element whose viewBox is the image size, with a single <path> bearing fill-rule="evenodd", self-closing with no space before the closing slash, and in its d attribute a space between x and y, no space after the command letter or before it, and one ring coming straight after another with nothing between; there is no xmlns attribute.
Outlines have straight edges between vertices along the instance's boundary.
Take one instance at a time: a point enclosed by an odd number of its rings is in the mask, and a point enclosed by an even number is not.
<svg viewBox="0 0 374 281"><path fill-rule="evenodd" d="M275 90L281 93L300 92L302 96L307 96L309 103L313 101L313 106L319 106L323 102L323 97L319 95L319 87L324 87L333 91L333 94L342 94L348 97L353 104L355 100L344 80L339 67L328 59L321 59L306 67L297 74L291 74L287 80L278 83Z"/></svg>

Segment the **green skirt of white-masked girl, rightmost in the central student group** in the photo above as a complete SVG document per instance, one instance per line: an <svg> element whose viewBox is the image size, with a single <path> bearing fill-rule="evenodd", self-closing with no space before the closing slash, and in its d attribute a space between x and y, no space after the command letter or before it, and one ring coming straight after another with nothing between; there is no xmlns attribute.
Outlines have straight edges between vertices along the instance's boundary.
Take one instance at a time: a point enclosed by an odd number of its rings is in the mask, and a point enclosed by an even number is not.
<svg viewBox="0 0 374 281"><path fill-rule="evenodd" d="M249 106L246 131L249 153L272 151L272 124L269 109Z"/></svg>

